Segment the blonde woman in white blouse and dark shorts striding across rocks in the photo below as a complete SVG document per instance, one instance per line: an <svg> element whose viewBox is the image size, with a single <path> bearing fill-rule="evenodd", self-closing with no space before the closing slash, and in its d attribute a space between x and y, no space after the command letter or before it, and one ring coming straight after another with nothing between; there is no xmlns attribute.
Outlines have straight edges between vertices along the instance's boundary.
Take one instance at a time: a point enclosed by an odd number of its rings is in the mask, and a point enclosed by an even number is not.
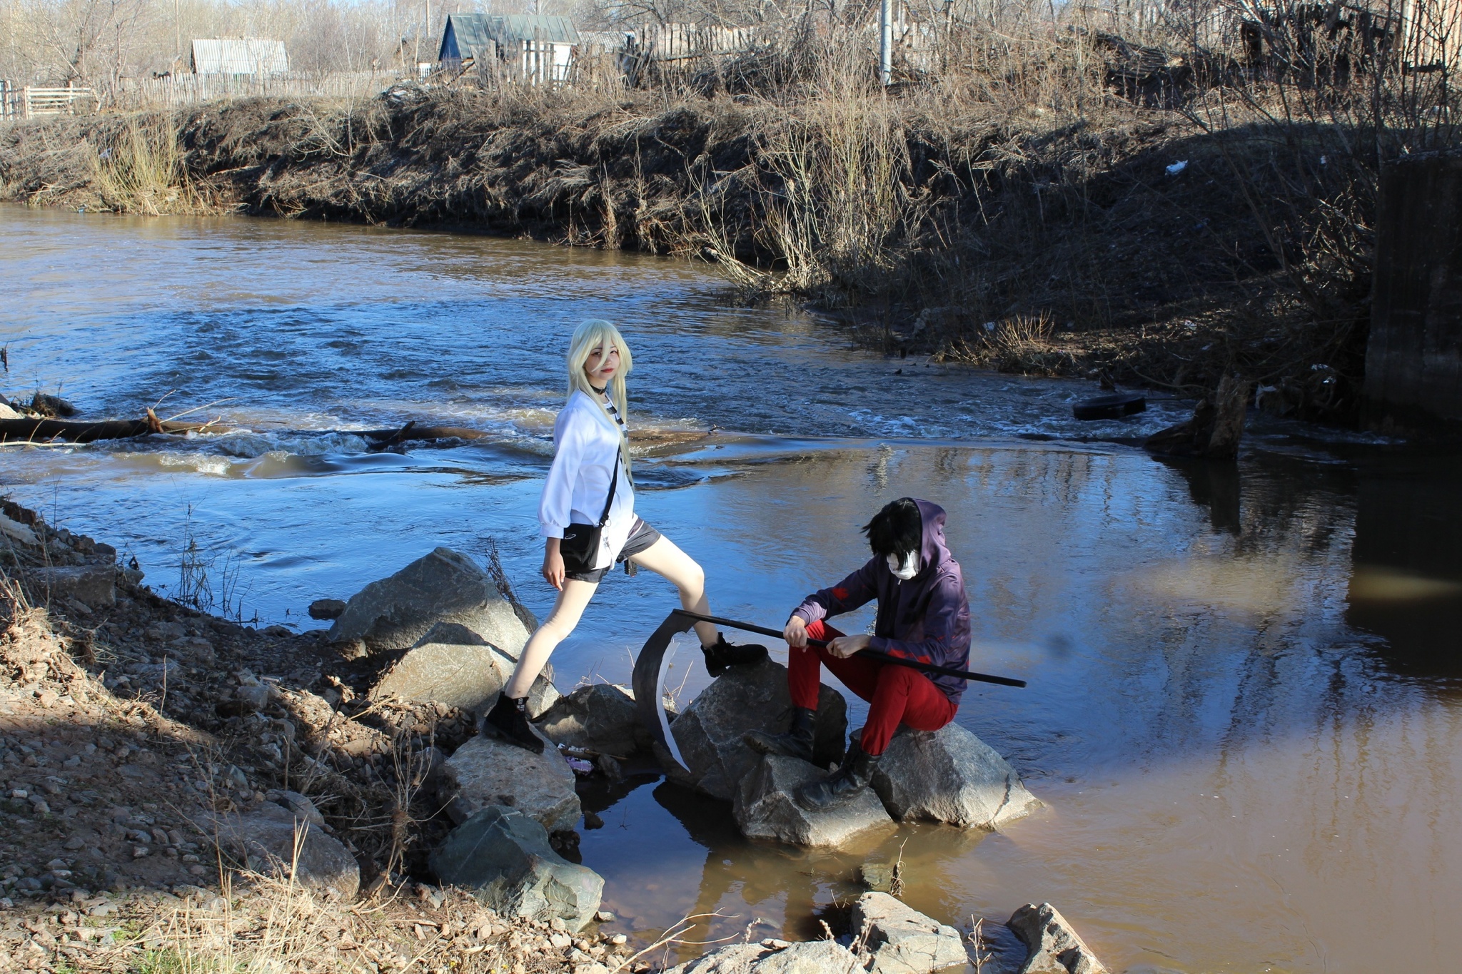
<svg viewBox="0 0 1462 974"><path fill-rule="evenodd" d="M624 380L632 365L624 336L608 321L585 321L575 330L569 345L569 402L554 422L553 466L538 504L542 575L558 590L558 599L548 621L528 640L512 679L481 727L484 735L529 751L541 752L544 742L528 723L528 691L548 656L579 625L579 616L616 562L626 562L626 571L649 568L680 590L681 606L703 615L711 612L700 565L635 514L635 475L624 422ZM566 533L592 526L599 526L596 548L585 553L564 546ZM696 634L712 676L766 659L765 647L727 643L709 622L697 622Z"/></svg>

